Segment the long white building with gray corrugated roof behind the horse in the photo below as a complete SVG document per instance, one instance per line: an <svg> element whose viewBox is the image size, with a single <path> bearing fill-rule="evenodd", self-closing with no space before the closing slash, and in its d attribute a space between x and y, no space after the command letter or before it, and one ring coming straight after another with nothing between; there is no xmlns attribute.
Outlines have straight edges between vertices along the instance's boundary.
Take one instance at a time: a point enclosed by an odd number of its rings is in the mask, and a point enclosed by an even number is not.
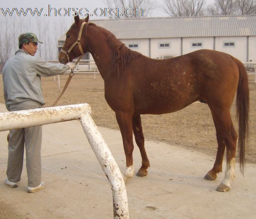
<svg viewBox="0 0 256 219"><path fill-rule="evenodd" d="M130 49L165 59L198 49L226 52L242 62L256 62L256 15L158 17L90 20L112 32ZM65 34L59 39L59 49ZM92 59L86 54L84 59Z"/></svg>

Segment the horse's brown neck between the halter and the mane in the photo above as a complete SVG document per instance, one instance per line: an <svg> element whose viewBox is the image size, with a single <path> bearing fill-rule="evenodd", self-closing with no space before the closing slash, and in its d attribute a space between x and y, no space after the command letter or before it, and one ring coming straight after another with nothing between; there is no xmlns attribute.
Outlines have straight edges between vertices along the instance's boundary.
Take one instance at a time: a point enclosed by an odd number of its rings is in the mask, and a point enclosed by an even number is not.
<svg viewBox="0 0 256 219"><path fill-rule="evenodd" d="M87 34L87 42L90 45L89 52L105 80L113 74L113 50L109 47L106 36L101 32L95 35Z"/></svg>

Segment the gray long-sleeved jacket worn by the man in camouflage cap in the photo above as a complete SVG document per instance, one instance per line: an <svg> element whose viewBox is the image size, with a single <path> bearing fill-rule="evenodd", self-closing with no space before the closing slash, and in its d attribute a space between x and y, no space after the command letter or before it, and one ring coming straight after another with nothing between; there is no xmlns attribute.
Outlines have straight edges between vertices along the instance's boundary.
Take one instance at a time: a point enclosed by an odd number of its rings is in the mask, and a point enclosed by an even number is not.
<svg viewBox="0 0 256 219"><path fill-rule="evenodd" d="M41 76L64 74L69 66L46 62L20 49L3 68L4 98L7 110L10 105L24 101L36 101L44 105Z"/></svg>

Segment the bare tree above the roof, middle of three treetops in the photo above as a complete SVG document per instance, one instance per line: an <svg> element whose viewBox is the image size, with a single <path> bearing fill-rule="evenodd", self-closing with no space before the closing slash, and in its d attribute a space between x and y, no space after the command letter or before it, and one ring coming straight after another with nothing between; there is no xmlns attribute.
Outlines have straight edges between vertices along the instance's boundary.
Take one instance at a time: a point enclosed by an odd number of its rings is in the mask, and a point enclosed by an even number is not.
<svg viewBox="0 0 256 219"><path fill-rule="evenodd" d="M162 9L172 17L204 15L206 0L164 0Z"/></svg>

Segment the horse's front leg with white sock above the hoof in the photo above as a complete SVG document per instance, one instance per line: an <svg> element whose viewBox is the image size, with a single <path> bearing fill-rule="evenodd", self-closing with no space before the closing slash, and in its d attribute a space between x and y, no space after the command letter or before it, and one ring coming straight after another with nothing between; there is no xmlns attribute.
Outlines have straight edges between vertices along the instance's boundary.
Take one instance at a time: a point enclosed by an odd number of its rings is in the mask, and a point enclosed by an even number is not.
<svg viewBox="0 0 256 219"><path fill-rule="evenodd" d="M133 178L133 128L132 128L132 114L123 111L116 112L116 121L118 122L121 135L123 138L123 148L126 154L126 172L124 173L124 181Z"/></svg>

